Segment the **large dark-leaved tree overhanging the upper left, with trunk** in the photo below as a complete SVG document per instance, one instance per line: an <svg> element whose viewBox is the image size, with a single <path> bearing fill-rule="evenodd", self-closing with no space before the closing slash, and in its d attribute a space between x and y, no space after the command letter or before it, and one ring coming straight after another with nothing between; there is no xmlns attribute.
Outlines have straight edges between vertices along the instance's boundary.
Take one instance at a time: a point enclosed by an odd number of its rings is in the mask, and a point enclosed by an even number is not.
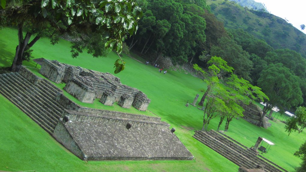
<svg viewBox="0 0 306 172"><path fill-rule="evenodd" d="M120 53L124 39L137 30L142 11L134 0L24 0L9 1L6 8L0 9L0 15L1 26L18 27L19 44L11 66L12 71L18 71L24 54L29 54L24 52L35 42L45 37L54 44L64 33L70 33L75 40L72 41L73 57L83 49L88 49L88 53L96 57L105 56L105 51L101 50L104 46L100 49L94 46L103 44ZM26 32L25 36L23 32ZM92 41L90 37L95 35L100 36ZM118 63L116 70L121 71L123 65L123 61Z"/></svg>

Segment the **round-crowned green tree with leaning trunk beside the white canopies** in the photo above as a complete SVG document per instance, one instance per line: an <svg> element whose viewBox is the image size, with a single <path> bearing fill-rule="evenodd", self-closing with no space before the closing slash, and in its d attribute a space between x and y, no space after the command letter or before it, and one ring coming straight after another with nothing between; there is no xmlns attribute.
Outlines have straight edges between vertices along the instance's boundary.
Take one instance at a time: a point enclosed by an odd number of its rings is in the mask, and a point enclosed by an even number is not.
<svg viewBox="0 0 306 172"><path fill-rule="evenodd" d="M300 79L281 63L269 64L261 71L258 86L269 97L269 100L264 101L267 105L263 109L259 126L268 110L274 106L284 110L303 102Z"/></svg>

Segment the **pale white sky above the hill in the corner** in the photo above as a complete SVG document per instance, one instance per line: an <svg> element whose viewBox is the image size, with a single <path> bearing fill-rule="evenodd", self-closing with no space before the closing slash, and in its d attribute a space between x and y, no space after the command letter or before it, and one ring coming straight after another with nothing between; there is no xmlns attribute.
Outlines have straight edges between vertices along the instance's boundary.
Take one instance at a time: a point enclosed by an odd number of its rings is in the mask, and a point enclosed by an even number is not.
<svg viewBox="0 0 306 172"><path fill-rule="evenodd" d="M301 30L300 25L306 25L306 1L304 0L255 0L266 5L267 10ZM302 30L306 34L306 28Z"/></svg>

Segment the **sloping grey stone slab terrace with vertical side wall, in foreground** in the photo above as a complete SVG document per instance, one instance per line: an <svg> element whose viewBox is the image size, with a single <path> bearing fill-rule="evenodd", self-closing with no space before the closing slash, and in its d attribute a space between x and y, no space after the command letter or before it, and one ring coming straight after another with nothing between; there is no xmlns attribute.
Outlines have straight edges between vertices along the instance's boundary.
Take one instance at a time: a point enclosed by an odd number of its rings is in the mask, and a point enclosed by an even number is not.
<svg viewBox="0 0 306 172"><path fill-rule="evenodd" d="M105 116L68 110L63 117L53 136L80 159L193 159L169 124L155 117L144 120L140 115L127 118L126 114Z"/></svg>

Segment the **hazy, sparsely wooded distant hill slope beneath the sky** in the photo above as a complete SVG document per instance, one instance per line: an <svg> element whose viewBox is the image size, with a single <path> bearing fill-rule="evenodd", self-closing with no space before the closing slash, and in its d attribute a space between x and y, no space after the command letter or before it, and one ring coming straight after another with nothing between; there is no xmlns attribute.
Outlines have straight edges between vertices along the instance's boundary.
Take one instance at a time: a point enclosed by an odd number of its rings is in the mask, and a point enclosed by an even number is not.
<svg viewBox="0 0 306 172"><path fill-rule="evenodd" d="M211 12L226 28L238 29L264 39L274 49L288 48L306 58L306 34L286 20L263 11L256 11L224 0L207 0Z"/></svg>

